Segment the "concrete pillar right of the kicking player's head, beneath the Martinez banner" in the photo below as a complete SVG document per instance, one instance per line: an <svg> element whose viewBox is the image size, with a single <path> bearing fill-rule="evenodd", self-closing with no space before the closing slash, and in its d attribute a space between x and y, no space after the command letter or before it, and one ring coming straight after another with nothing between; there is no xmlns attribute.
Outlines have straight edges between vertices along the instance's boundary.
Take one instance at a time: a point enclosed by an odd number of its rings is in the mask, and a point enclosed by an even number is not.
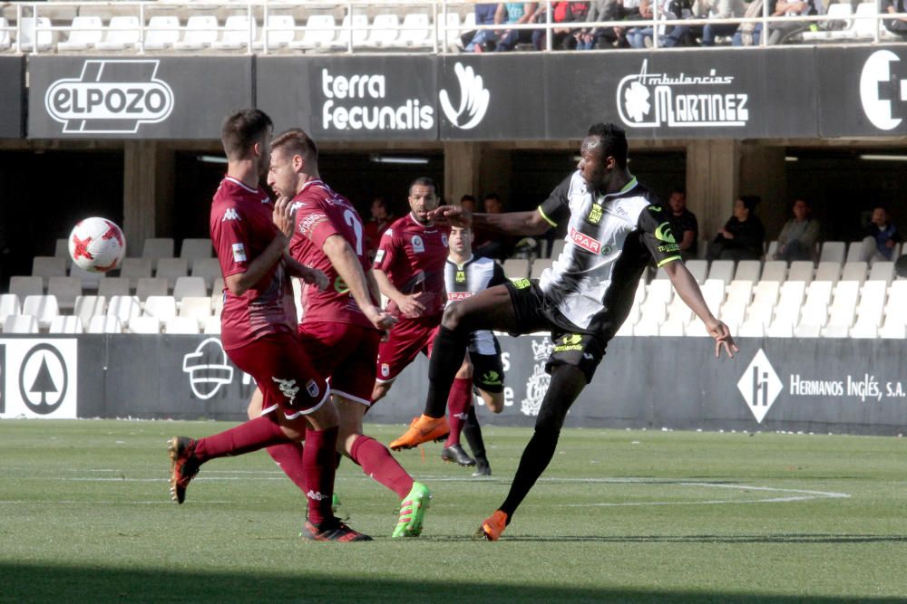
<svg viewBox="0 0 907 604"><path fill-rule="evenodd" d="M739 159L736 140L692 140L687 145L687 207L697 216L700 240L715 238L731 216Z"/></svg>

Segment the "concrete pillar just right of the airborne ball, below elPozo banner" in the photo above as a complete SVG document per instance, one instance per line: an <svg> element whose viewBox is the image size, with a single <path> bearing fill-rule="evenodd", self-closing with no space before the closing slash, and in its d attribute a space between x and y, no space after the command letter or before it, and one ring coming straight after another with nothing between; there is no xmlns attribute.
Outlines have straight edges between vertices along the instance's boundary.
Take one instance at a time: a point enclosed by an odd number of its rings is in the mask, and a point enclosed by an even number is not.
<svg viewBox="0 0 907 604"><path fill-rule="evenodd" d="M123 232L129 254L141 254L145 239L168 236L173 227L173 151L155 140L123 145Z"/></svg>

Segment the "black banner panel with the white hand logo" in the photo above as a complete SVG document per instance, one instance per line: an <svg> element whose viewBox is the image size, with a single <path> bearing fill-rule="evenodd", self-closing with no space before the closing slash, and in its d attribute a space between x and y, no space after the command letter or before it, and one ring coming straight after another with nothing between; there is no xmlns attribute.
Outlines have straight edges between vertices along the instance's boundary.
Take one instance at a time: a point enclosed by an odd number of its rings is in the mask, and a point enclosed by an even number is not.
<svg viewBox="0 0 907 604"><path fill-rule="evenodd" d="M549 62L539 54L459 54L439 61L441 139L545 139L548 120L561 120L560 110L545 102Z"/></svg>

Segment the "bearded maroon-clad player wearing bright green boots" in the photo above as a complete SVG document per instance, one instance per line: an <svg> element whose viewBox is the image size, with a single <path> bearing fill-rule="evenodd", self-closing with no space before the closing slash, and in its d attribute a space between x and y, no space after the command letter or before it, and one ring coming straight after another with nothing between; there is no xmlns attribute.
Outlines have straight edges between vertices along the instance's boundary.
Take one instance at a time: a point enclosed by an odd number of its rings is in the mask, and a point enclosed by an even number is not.
<svg viewBox="0 0 907 604"><path fill-rule="evenodd" d="M400 519L392 536L417 536L431 497L428 489L414 482L384 445L362 434L362 417L375 384L379 330L395 323L376 305L380 295L364 247L362 219L346 197L321 180L317 146L301 129L271 141L268 185L279 196L293 198L293 258L327 275L327 289L309 284L302 292L298 336L319 375L330 379L340 413L337 450L400 496ZM260 408L257 390L249 417ZM268 454L306 493L302 449L298 443L270 446Z"/></svg>

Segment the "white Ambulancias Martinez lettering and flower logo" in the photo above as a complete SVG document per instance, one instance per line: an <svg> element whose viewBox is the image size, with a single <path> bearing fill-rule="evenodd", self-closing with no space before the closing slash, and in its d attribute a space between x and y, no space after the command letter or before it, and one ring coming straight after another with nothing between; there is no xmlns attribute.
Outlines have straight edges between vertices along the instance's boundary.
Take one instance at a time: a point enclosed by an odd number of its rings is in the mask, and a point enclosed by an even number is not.
<svg viewBox="0 0 907 604"><path fill-rule="evenodd" d="M639 73L618 84L618 112L630 128L744 127L749 94L734 86L734 76L649 73L649 59Z"/></svg>

